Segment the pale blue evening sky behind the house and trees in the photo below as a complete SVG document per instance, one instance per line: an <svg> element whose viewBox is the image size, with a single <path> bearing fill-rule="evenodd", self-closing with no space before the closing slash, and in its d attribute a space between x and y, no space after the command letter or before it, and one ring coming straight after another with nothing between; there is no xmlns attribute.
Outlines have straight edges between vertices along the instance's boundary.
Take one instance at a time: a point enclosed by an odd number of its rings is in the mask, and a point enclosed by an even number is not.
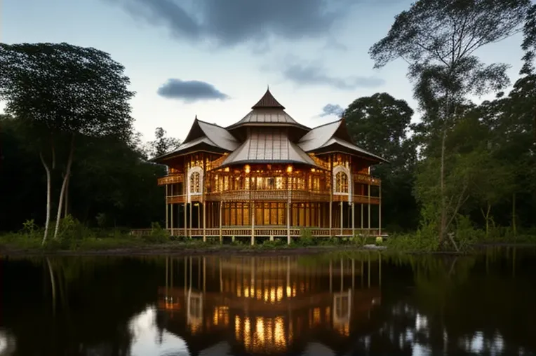
<svg viewBox="0 0 536 356"><path fill-rule="evenodd" d="M110 53L136 92L134 125L145 141L157 127L184 139L195 116L231 125L268 85L290 116L314 127L379 92L417 109L406 62L373 69L368 55L411 2L0 0L0 41L67 42ZM520 44L521 36L512 36L477 54L511 64L514 82Z"/></svg>

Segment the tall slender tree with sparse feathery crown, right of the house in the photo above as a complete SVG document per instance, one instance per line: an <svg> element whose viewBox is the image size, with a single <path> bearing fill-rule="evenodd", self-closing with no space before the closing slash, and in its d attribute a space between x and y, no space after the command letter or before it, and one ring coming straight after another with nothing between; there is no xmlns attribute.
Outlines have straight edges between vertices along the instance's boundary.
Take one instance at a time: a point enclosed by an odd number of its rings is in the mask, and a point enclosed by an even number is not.
<svg viewBox="0 0 536 356"><path fill-rule="evenodd" d="M521 31L530 0L419 0L396 16L389 33L369 53L375 67L403 58L415 98L439 124L439 240L449 223L445 187L445 142L467 95L500 90L509 81L506 64L483 64L475 51Z"/></svg>

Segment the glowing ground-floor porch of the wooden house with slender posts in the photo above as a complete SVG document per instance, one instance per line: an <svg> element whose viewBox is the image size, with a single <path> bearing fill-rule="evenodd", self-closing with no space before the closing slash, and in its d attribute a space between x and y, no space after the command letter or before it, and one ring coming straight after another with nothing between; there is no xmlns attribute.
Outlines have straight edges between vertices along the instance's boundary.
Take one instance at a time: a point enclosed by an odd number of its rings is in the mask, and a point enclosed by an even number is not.
<svg viewBox="0 0 536 356"><path fill-rule="evenodd" d="M166 205L170 235L188 238L300 238L382 235L381 202L192 202ZM150 229L133 231L135 235Z"/></svg>

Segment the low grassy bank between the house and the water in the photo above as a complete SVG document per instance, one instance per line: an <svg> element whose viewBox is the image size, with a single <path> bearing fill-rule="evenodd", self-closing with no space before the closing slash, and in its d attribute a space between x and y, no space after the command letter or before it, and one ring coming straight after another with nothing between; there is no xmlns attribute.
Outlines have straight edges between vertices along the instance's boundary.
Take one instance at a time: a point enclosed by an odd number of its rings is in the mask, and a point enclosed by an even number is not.
<svg viewBox="0 0 536 356"><path fill-rule="evenodd" d="M384 245L393 252L437 252L440 248L436 236L417 231L413 234L394 234L387 240L376 240L374 236L359 236L354 238L315 238L307 229L302 230L300 238L293 238L287 245L286 238L256 238L255 245L250 245L250 238L225 238L220 244L219 238L207 238L203 242L199 238L184 238L170 236L159 224L152 225L148 235L130 235L128 229L95 229L80 224L76 219L67 217L61 221L58 238L48 238L42 245L43 229L34 224L34 221L25 222L21 231L0 235L0 249L7 252L112 252L121 249L134 251L161 251L163 249L230 249L241 251L270 250L270 249L303 249L307 247L331 247L332 249L356 250L365 245ZM457 231L456 240L462 252L469 252L477 245L485 244L535 244L536 233L525 231L521 234L512 234L507 229L496 229L488 235L483 231L463 230ZM324 249L325 250L325 249Z"/></svg>

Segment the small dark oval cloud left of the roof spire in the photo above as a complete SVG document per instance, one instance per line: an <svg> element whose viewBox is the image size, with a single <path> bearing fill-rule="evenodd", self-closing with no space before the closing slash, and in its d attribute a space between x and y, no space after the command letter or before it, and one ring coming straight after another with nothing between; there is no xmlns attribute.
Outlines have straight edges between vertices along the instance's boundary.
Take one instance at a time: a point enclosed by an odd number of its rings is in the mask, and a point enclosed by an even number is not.
<svg viewBox="0 0 536 356"><path fill-rule="evenodd" d="M181 81L168 79L158 90L158 95L167 99L179 99L185 102L200 100L226 100L227 94L217 90L214 85L204 81Z"/></svg>

